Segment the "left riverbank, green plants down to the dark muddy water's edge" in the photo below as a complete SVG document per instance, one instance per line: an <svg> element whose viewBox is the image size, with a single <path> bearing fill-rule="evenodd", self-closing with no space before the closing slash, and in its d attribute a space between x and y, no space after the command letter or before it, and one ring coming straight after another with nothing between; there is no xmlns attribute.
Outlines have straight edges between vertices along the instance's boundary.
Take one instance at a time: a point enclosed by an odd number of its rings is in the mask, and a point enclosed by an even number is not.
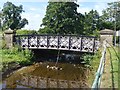
<svg viewBox="0 0 120 90"><path fill-rule="evenodd" d="M27 49L22 50L17 47L2 49L0 55L2 56L0 72L3 78L22 66L32 64L32 52Z"/></svg>

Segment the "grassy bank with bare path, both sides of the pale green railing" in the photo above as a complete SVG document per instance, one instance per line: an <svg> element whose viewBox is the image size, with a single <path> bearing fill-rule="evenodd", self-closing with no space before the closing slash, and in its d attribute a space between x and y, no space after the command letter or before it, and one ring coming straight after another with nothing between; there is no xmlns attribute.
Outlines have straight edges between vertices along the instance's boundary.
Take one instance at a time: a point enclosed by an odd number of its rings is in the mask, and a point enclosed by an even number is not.
<svg viewBox="0 0 120 90"><path fill-rule="evenodd" d="M115 52L116 51L116 52ZM94 58L92 60L91 63L91 72L90 75L88 77L88 83L92 86L93 80L95 79L95 74L96 71L98 69L99 63L100 63L100 58L101 58L101 51L99 51L97 54L94 55ZM109 83L105 83L106 87L109 85L111 85L111 87L113 88L117 88L118 87L118 48L115 47L115 49L113 49L112 47L107 48L107 54L106 54L106 66L105 70L107 70L108 72L104 72L103 73L103 77L104 78L104 82L109 82ZM107 63L110 62L110 63ZM109 64L109 65L108 65ZM107 78L109 79L106 79ZM101 80L102 82L102 80ZM107 87L109 88L109 87Z"/></svg>

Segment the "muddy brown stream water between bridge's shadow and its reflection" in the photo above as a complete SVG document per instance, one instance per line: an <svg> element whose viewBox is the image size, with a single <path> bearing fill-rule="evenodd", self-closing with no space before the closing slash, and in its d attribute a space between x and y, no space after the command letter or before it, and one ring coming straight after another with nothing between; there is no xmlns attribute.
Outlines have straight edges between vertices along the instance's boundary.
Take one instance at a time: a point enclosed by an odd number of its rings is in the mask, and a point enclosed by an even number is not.
<svg viewBox="0 0 120 90"><path fill-rule="evenodd" d="M52 67L57 67L57 69ZM88 70L81 64L58 63L55 66L54 62L35 63L14 71L13 74L5 79L6 88L16 88L19 86L16 85L16 81L21 80L21 74L59 80L80 81L82 82L81 84L83 84L81 87L88 87L86 81L87 71Z"/></svg>

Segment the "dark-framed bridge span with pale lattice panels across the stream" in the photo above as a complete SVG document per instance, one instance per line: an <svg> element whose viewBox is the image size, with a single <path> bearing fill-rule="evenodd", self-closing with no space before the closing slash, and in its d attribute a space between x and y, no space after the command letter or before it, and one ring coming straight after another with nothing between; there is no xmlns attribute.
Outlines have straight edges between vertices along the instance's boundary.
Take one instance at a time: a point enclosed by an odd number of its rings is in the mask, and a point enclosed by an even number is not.
<svg viewBox="0 0 120 90"><path fill-rule="evenodd" d="M97 50L99 43L93 36L79 35L16 35L15 40L22 48L92 53Z"/></svg>

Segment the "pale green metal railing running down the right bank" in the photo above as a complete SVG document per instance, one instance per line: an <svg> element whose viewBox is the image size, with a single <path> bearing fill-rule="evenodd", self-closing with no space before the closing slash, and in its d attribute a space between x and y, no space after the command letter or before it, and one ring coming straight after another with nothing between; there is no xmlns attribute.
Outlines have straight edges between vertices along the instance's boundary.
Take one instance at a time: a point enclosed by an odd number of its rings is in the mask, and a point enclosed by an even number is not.
<svg viewBox="0 0 120 90"><path fill-rule="evenodd" d="M101 77L102 77L102 74L103 74L103 71L104 71L105 58L106 58L106 41L104 43L104 50L102 52L102 57L100 59L100 64L99 64L99 67L98 67L98 70L97 70L97 73L96 73L96 76L95 76L95 79L94 79L94 82L93 82L93 85L92 85L93 90L97 89L97 88L100 88Z"/></svg>

